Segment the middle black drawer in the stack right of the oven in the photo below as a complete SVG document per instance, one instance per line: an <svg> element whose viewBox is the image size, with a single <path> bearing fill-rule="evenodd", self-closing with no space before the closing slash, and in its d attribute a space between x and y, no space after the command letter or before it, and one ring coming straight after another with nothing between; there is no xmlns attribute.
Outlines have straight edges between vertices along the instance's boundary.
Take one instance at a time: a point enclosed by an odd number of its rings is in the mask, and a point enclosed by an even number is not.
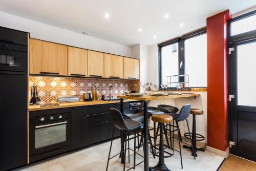
<svg viewBox="0 0 256 171"><path fill-rule="evenodd" d="M82 125L91 125L95 123L108 122L109 121L109 113L103 114L93 114L82 117Z"/></svg>

